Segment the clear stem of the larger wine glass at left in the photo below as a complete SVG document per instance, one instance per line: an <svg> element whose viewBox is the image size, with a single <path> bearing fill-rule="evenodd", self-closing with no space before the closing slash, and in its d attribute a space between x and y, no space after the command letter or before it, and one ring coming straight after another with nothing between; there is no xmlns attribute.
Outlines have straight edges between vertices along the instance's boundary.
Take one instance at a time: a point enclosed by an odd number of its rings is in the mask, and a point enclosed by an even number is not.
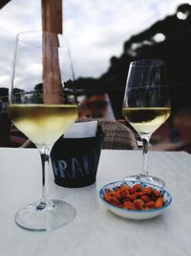
<svg viewBox="0 0 191 256"><path fill-rule="evenodd" d="M40 156L42 162L42 197L37 206L38 210L43 210L48 206L53 206L53 201L49 198L49 162L50 162L50 149L40 148Z"/></svg>

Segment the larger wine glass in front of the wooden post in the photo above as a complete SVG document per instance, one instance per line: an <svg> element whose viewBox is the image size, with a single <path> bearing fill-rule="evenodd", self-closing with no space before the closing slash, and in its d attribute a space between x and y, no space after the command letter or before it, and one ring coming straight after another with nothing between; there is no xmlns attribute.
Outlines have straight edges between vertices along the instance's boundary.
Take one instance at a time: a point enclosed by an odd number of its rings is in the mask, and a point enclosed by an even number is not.
<svg viewBox="0 0 191 256"><path fill-rule="evenodd" d="M69 96L64 92L66 86L70 87ZM53 144L77 118L73 89L73 66L63 35L17 35L9 114L13 125L36 146L42 161L42 196L15 216L15 222L25 229L51 230L74 219L74 207L50 198L48 192Z"/></svg>

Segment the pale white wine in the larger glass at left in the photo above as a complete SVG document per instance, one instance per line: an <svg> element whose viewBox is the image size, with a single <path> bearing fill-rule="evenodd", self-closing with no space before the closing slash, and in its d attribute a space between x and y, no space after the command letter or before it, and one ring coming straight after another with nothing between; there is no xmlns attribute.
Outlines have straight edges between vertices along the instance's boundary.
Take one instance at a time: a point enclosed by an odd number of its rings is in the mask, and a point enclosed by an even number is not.
<svg viewBox="0 0 191 256"><path fill-rule="evenodd" d="M52 145L77 118L76 105L10 105L12 123L36 146Z"/></svg>

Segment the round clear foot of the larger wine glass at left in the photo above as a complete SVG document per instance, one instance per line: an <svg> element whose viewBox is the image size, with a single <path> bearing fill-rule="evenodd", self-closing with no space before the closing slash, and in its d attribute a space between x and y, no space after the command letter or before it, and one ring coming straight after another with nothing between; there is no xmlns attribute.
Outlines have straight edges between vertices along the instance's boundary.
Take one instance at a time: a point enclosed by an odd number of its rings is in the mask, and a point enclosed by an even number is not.
<svg viewBox="0 0 191 256"><path fill-rule="evenodd" d="M52 200L46 205L34 202L20 209L14 221L22 228L33 231L46 231L72 221L74 207L62 200Z"/></svg>

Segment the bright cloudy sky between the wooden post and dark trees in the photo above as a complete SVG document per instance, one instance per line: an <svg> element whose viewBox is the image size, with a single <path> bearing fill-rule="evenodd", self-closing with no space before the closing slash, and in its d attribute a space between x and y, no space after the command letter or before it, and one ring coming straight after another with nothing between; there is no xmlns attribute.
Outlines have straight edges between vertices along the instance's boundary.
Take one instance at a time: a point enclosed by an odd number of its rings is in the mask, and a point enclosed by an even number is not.
<svg viewBox="0 0 191 256"><path fill-rule="evenodd" d="M179 0L96 0L67 2L65 32L71 42L76 76L99 76L123 42L176 11ZM67 11L68 10L68 11ZM76 13L76 14L75 14Z"/></svg>

